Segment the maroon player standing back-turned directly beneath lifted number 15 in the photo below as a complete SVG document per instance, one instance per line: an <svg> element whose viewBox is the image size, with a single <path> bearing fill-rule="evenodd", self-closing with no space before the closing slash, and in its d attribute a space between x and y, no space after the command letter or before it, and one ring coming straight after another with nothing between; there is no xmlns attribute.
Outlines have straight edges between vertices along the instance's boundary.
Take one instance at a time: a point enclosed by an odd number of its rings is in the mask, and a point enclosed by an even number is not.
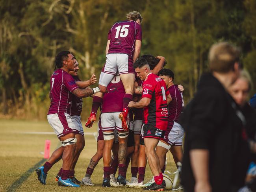
<svg viewBox="0 0 256 192"><path fill-rule="evenodd" d="M103 164L104 179L102 186L110 186L110 161L111 148L114 140L114 130L117 129L119 138L119 176L117 182L126 185L125 180L125 161L127 150L127 137L129 131L124 131L119 113L122 111L122 98L125 94L124 86L119 75L115 76L108 85L109 93L104 94L102 102L102 114L100 116L101 126L104 137Z"/></svg>

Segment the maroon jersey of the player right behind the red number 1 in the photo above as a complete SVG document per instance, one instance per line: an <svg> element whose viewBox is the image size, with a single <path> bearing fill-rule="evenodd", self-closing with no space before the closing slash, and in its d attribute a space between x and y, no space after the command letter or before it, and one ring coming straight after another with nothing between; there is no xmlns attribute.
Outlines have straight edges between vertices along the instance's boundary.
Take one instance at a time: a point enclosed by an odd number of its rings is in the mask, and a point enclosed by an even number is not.
<svg viewBox="0 0 256 192"><path fill-rule="evenodd" d="M180 113L182 112L182 107L184 106L182 92L178 89L177 85L172 85L169 87L169 92L172 97L172 101L168 105L168 125L169 123L179 122Z"/></svg>

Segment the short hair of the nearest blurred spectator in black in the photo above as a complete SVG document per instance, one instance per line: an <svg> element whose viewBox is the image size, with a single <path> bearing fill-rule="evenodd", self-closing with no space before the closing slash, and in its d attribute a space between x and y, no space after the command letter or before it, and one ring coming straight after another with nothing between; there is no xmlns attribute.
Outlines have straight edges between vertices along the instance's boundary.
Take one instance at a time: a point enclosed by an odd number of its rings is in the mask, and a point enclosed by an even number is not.
<svg viewBox="0 0 256 192"><path fill-rule="evenodd" d="M239 62L240 49L228 42L213 44L208 59L209 68L213 72L226 73L234 69L234 63Z"/></svg>

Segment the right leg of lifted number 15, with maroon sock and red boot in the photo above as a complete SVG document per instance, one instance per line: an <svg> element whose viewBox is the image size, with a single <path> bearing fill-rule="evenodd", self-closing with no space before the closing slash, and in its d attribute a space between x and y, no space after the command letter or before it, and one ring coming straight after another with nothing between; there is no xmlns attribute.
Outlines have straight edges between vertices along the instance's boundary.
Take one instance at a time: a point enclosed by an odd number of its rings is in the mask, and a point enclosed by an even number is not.
<svg viewBox="0 0 256 192"><path fill-rule="evenodd" d="M128 131L129 127L127 123L127 106L129 102L132 101L133 98L135 75L134 73L120 74L120 78L124 85L125 95L123 98L123 111L119 114L119 118L122 120L122 128L124 129L124 131Z"/></svg>

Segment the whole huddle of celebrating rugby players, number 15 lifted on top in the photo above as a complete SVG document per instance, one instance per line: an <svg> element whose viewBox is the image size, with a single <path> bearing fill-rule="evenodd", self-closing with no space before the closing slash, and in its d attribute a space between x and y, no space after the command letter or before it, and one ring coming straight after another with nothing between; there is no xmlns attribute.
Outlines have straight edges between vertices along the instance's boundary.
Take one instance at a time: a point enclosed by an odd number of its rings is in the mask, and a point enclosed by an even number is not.
<svg viewBox="0 0 256 192"><path fill-rule="evenodd" d="M96 121L98 108L101 114L97 152L91 158L82 184L94 185L91 175L103 157L102 186L143 187L148 160L154 181L149 186L144 184L144 189L161 191L165 188L166 153L170 150L176 163L182 159L184 131L178 122L184 106L184 89L182 85L174 85L171 70L163 69L164 57L139 57L142 17L137 11L126 17L127 20L116 22L109 30L106 64L98 87L89 88L96 83L95 74L87 81L78 78L78 62L69 51L56 56L58 69L54 69L50 80L51 104L47 118L62 146L36 170L44 185L47 172L60 159L63 164L56 175L58 185L79 187L81 184L74 176L74 168L85 146L80 114L82 98L88 96L93 97L93 103L85 126L91 127ZM126 171L130 161L132 178L128 182Z"/></svg>

